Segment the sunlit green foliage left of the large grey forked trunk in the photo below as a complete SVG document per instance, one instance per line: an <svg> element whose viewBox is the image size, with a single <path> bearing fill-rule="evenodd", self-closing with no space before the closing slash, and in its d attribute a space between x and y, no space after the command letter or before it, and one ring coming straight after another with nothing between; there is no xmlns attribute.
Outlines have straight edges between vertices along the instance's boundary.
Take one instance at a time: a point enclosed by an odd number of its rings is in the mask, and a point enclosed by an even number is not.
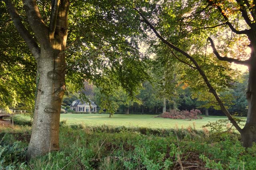
<svg viewBox="0 0 256 170"><path fill-rule="evenodd" d="M22 21L22 2L16 2ZM24 25L27 26L26 22ZM16 32L3 2L0 2L0 107L32 110L36 62Z"/></svg>

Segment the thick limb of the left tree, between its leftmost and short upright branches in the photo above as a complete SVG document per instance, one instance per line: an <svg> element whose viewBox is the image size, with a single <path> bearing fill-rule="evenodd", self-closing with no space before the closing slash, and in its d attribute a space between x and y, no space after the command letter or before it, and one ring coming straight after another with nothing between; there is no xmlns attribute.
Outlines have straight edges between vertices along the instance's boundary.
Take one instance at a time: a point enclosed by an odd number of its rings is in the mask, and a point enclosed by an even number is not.
<svg viewBox="0 0 256 170"><path fill-rule="evenodd" d="M40 45L48 45L48 28L44 24L35 0L23 0L24 8L28 16L28 22L35 33Z"/></svg>

